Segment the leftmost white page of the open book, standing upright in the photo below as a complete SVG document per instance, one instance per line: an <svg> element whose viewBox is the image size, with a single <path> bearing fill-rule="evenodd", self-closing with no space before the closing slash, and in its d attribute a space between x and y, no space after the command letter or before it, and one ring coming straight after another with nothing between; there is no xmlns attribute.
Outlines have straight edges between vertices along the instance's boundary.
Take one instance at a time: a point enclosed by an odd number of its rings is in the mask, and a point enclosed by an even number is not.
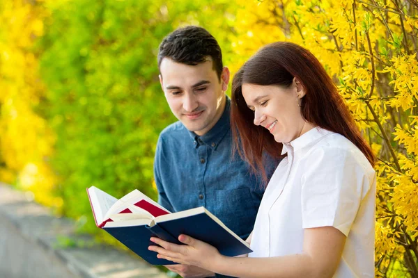
<svg viewBox="0 0 418 278"><path fill-rule="evenodd" d="M95 186L88 188L88 197L90 198L91 206L93 208L96 224L100 225L104 221L104 215L118 199Z"/></svg>

